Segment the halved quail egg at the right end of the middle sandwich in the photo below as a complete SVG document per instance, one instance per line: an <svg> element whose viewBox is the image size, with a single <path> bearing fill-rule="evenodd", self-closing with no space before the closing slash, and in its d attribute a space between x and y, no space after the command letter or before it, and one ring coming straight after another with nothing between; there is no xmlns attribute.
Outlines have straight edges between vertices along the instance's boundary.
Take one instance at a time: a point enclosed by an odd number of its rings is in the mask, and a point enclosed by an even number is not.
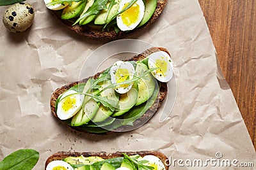
<svg viewBox="0 0 256 170"><path fill-rule="evenodd" d="M156 68L152 71L152 75L161 82L167 82L171 80L173 76L173 64L172 59L168 53L160 51L154 52L148 55L148 68Z"/></svg>

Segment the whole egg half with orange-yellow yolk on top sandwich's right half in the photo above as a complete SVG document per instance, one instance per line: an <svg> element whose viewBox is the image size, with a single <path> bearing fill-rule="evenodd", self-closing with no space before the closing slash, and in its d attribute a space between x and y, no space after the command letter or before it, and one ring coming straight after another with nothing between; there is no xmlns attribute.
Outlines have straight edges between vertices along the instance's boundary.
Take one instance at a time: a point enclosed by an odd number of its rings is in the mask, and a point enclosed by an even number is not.
<svg viewBox="0 0 256 170"><path fill-rule="evenodd" d="M131 0L122 0L119 12L124 10ZM116 17L117 26L122 31L129 31L137 27L145 13L145 5L142 0L137 0L130 8Z"/></svg>

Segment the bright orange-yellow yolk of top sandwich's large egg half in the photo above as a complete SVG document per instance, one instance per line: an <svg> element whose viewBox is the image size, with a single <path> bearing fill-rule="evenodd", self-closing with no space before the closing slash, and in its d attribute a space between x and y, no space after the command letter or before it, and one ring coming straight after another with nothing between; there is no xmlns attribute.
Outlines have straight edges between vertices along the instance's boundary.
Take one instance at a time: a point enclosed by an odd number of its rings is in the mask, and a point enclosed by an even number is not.
<svg viewBox="0 0 256 170"><path fill-rule="evenodd" d="M128 6L129 3L125 3L124 8ZM123 10L124 10L123 8ZM132 6L121 13L122 21L125 25L129 26L137 22L140 16L140 6L136 3L132 4Z"/></svg>

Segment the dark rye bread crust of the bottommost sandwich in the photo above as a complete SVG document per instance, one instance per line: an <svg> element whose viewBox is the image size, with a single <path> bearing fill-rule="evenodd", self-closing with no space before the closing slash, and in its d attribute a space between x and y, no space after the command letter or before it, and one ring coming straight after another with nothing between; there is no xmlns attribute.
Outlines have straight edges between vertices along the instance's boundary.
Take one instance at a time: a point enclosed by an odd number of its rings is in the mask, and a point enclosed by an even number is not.
<svg viewBox="0 0 256 170"><path fill-rule="evenodd" d="M106 153L106 152L57 152L52 154L45 162L45 169L47 165L54 161L54 160L63 160L67 157L79 157L83 155L83 157L101 157L102 159L112 159L115 157L124 157L122 153L125 153L129 156L131 155L140 155L141 157L144 157L146 155L154 155L158 157L164 164L165 169L169 169L169 161L168 157L164 155L161 152L156 152L156 151L139 151L139 152L115 152L115 153Z"/></svg>

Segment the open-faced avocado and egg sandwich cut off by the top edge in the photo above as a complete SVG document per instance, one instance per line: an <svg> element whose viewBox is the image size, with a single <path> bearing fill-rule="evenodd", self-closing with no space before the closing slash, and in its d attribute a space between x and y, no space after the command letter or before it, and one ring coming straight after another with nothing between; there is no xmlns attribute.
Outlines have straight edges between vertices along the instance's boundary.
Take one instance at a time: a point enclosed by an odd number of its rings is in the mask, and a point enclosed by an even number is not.
<svg viewBox="0 0 256 170"><path fill-rule="evenodd" d="M118 39L152 24L167 0L44 0L63 24L93 39Z"/></svg>

